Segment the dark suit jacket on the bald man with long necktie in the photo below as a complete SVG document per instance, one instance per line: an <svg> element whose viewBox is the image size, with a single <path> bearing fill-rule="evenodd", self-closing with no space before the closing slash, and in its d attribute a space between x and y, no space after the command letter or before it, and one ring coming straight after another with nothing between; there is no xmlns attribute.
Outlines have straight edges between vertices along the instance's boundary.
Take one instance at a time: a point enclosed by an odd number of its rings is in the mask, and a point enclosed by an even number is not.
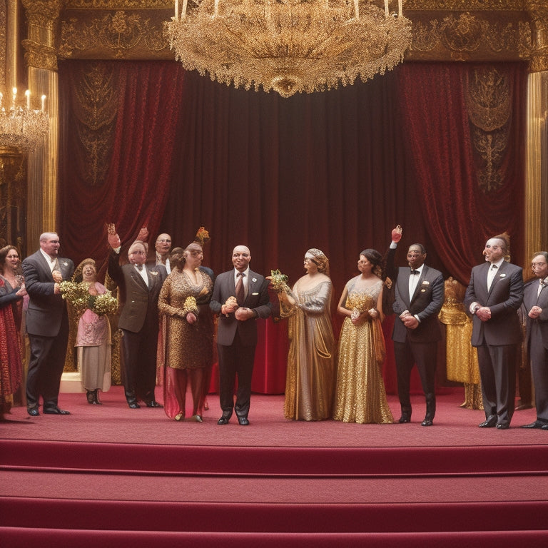
<svg viewBox="0 0 548 548"><path fill-rule="evenodd" d="M248 295L245 297L243 306L255 310L258 318L268 318L272 310L268 296L269 281L260 274L249 271ZM228 316L220 313L220 308L229 297L234 297L236 288L234 283L234 270L223 272L217 276L213 287L213 296L209 303L211 310L219 314L217 328L217 342L220 345L229 346L233 343L236 330L244 346L257 344L257 323L253 318L240 322L236 320L234 313Z"/></svg>

